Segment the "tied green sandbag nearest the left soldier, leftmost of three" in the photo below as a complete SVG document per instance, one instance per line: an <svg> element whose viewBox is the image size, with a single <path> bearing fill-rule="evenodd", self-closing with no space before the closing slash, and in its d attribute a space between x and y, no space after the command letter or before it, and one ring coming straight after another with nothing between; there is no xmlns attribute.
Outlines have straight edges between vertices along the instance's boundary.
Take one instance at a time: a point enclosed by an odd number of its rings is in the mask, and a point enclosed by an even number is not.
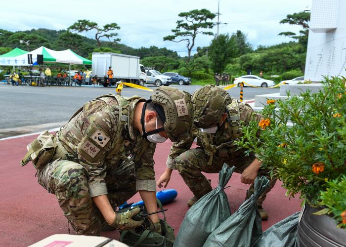
<svg viewBox="0 0 346 247"><path fill-rule="evenodd" d="M231 208L223 189L235 169L235 166L229 168L224 164L218 175L217 188L198 200L187 211L174 247L203 246L209 234L231 215Z"/></svg>

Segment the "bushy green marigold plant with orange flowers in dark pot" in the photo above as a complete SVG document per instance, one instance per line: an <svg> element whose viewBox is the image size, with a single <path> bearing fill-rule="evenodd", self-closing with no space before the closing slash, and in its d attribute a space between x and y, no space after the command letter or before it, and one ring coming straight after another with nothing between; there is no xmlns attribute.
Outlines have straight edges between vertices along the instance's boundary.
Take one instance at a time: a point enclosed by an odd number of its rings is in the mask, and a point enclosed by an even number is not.
<svg viewBox="0 0 346 247"><path fill-rule="evenodd" d="M345 82L345 78L326 79L317 93L291 96L288 92L285 101L265 105L263 119L243 127L238 141L239 148L256 153L262 166L283 182L288 196L299 194L311 206L320 205L330 181L346 174ZM342 222L346 208L329 208Z"/></svg>

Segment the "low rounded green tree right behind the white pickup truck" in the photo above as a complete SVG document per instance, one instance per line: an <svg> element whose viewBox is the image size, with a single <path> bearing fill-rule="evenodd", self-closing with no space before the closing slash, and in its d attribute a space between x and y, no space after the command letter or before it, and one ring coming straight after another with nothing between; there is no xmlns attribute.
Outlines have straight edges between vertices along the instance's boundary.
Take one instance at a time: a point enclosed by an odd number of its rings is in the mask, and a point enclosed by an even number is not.
<svg viewBox="0 0 346 247"><path fill-rule="evenodd" d="M179 61L177 59L166 56L145 57L141 59L141 63L148 67L155 67L155 70L162 73L175 70L179 67Z"/></svg>

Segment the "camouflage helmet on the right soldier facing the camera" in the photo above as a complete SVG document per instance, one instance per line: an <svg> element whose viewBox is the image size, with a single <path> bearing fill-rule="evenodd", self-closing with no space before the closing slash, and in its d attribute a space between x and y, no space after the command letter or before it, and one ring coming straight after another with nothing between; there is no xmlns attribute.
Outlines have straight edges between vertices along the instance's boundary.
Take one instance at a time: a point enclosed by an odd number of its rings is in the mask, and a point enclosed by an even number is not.
<svg viewBox="0 0 346 247"><path fill-rule="evenodd" d="M218 124L226 105L232 102L228 92L213 84L197 89L192 94L194 122L200 128Z"/></svg>

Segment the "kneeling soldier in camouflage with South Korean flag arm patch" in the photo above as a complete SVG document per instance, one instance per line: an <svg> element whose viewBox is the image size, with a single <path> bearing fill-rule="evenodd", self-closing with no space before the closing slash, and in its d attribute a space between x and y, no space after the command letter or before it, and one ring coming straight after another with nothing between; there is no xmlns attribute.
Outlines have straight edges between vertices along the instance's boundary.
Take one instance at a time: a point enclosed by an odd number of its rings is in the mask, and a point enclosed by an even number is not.
<svg viewBox="0 0 346 247"><path fill-rule="evenodd" d="M131 229L139 208L116 213L139 191L147 211L157 210L153 155L157 142L178 141L193 123L190 95L161 86L150 100L103 95L87 102L55 135L28 145L21 162L37 168L39 183L55 194L77 234ZM151 229L161 232L157 214Z"/></svg>

